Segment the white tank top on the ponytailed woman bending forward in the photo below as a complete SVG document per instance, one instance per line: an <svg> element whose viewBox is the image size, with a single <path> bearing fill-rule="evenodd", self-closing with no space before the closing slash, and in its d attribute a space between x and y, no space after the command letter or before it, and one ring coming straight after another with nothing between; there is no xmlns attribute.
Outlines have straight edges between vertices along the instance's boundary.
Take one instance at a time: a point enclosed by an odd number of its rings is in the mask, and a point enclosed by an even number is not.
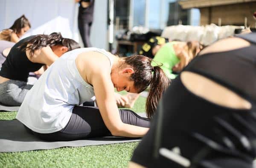
<svg viewBox="0 0 256 168"><path fill-rule="evenodd" d="M88 51L104 54L112 67L113 60L103 49L78 48L63 54L28 91L16 119L35 132L52 133L67 125L75 105L95 100L93 87L83 80L75 63L80 53Z"/></svg>

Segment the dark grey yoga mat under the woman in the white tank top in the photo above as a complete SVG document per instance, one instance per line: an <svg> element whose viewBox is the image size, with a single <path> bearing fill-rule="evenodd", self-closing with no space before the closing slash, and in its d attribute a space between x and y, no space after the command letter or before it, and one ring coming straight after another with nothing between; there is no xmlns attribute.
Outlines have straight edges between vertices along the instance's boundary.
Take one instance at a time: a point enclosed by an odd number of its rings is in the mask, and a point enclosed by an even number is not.
<svg viewBox="0 0 256 168"><path fill-rule="evenodd" d="M124 142L137 142L139 138L99 137L74 141L47 142L29 133L18 120L0 120L0 152L55 149L64 146L81 147Z"/></svg>

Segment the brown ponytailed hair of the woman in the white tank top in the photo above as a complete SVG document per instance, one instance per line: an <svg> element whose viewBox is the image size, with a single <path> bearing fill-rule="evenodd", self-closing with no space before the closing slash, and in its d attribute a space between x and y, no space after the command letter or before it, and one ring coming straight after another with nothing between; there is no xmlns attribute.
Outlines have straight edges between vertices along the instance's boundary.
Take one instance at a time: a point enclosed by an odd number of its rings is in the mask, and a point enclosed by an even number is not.
<svg viewBox="0 0 256 168"><path fill-rule="evenodd" d="M160 65L154 67L151 65L151 58L134 55L125 57L124 60L125 64L134 68L134 73L131 74L130 80L134 81L134 87L138 90L138 93L144 91L150 85L146 100L146 114L147 117L152 118L158 101L163 91L169 86L170 81L160 68Z"/></svg>

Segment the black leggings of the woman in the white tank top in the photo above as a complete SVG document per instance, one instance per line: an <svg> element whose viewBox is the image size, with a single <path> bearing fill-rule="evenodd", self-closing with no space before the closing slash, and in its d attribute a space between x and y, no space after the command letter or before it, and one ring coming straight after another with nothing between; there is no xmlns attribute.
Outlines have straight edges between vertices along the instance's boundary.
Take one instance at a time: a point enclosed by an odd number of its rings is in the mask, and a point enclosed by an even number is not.
<svg viewBox="0 0 256 168"><path fill-rule="evenodd" d="M119 109L120 118L123 123L149 128L148 118L140 117L131 110ZM29 129L29 131L32 131ZM89 137L112 136L97 107L75 106L70 121L65 128L58 132L41 134L32 131L42 140L47 141L70 141Z"/></svg>

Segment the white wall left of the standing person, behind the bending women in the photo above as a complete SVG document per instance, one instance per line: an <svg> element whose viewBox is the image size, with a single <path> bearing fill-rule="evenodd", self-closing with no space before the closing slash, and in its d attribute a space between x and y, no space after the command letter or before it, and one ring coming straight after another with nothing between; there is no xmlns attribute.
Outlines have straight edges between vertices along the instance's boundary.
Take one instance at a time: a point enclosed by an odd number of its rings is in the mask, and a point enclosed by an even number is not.
<svg viewBox="0 0 256 168"><path fill-rule="evenodd" d="M22 14L29 19L32 34L61 32L63 37L78 41L75 25L76 4L73 0L1 0L0 29L9 28Z"/></svg>

